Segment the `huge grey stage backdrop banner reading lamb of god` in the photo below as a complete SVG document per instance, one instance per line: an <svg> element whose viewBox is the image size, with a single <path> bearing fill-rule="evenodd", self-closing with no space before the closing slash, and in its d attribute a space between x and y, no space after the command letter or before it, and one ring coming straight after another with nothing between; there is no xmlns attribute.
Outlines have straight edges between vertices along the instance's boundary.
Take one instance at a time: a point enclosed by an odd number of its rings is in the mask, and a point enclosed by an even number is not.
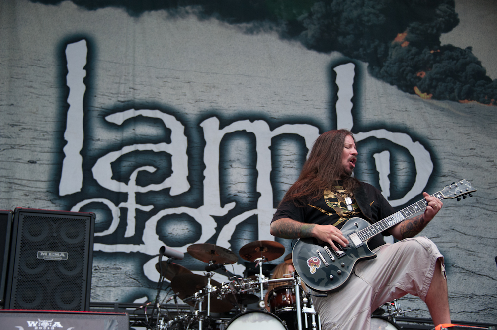
<svg viewBox="0 0 497 330"><path fill-rule="evenodd" d="M276 240L282 262L272 214L347 128L397 209L477 189L422 234L453 319L495 322L496 22L492 0L1 1L0 209L95 213L92 301L150 301L161 246Z"/></svg>

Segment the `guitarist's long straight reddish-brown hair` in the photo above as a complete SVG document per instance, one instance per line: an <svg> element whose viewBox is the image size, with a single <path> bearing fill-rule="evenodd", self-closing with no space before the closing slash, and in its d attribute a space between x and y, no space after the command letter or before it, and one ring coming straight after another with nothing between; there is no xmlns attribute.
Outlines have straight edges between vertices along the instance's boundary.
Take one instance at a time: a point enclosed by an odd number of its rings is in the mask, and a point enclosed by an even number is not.
<svg viewBox="0 0 497 330"><path fill-rule="evenodd" d="M306 203L303 198L319 198L324 189L334 190L339 180L345 189L354 191L359 182L346 174L341 164L347 135L354 138L348 130L332 130L324 132L314 141L299 178L288 189L281 202L293 200L297 205L301 204L299 201Z"/></svg>

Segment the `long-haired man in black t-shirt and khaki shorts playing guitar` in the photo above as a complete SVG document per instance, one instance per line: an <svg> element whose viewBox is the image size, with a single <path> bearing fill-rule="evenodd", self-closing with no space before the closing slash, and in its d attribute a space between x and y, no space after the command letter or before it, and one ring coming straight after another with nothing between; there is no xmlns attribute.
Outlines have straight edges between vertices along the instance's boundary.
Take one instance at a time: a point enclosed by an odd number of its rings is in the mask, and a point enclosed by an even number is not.
<svg viewBox="0 0 497 330"><path fill-rule="evenodd" d="M297 181L281 201L271 222L272 235L315 237L336 245L349 243L340 228L352 217L370 223L395 213L373 186L352 177L357 161L350 131L321 134L311 149ZM371 312L407 293L428 306L435 325L450 324L443 256L428 238L414 237L433 219L442 202L423 193L425 211L382 232L400 240L385 244L381 235L368 241L377 257L356 264L350 280L325 297L313 297L325 330L370 330Z"/></svg>

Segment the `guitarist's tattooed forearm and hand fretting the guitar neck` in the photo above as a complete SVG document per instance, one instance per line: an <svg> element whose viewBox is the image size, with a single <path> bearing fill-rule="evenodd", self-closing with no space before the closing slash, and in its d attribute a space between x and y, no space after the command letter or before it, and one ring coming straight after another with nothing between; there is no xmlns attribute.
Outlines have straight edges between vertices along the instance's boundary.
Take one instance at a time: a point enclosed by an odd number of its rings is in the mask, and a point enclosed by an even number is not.
<svg viewBox="0 0 497 330"><path fill-rule="evenodd" d="M389 230L390 234L392 234L396 239L403 240L419 234L421 230L423 230L424 227L426 227L426 225L433 219L435 214L438 213L440 208L442 208L443 203L440 199L430 196L428 193L423 193L423 196L428 203L424 213L415 216L414 218L404 220Z"/></svg>

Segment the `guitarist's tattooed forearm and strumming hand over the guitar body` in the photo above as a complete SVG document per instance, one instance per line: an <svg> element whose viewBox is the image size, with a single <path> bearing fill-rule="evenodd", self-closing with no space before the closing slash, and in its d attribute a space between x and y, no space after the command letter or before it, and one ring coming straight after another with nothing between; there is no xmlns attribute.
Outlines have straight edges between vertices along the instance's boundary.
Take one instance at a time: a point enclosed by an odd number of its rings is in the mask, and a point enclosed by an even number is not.
<svg viewBox="0 0 497 330"><path fill-rule="evenodd" d="M294 239L315 237L324 242L328 242L334 250L338 250L333 241L347 246L348 240L342 232L332 225L317 225L314 223L302 223L290 218L281 218L271 223L271 235Z"/></svg>

